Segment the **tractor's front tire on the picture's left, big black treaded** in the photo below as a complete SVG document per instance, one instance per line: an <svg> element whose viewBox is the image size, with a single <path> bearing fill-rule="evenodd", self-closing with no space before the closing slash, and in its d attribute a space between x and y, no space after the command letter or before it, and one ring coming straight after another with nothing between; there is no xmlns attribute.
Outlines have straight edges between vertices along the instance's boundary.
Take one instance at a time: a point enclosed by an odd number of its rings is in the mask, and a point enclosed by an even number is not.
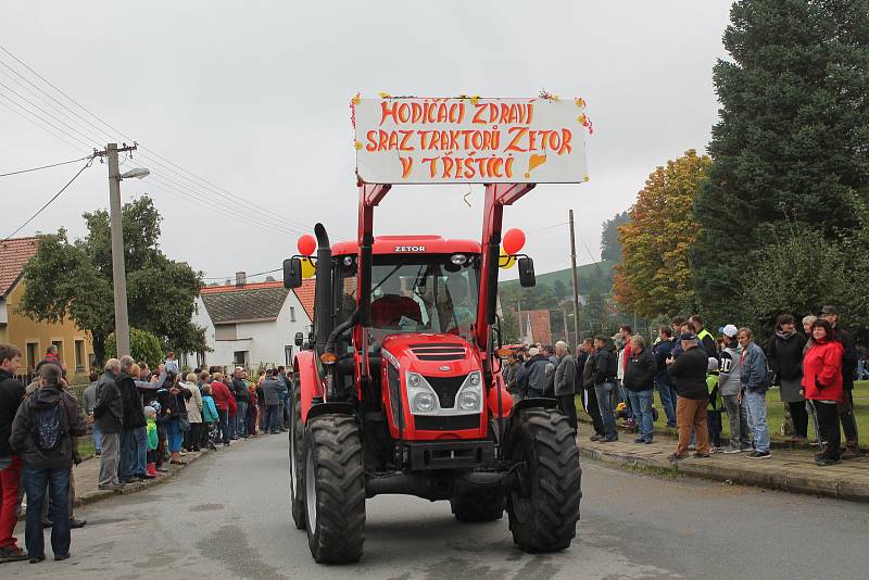
<svg viewBox="0 0 869 580"><path fill-rule="evenodd" d="M324 414L305 427L305 521L318 563L356 562L365 542L365 470L358 424Z"/></svg>

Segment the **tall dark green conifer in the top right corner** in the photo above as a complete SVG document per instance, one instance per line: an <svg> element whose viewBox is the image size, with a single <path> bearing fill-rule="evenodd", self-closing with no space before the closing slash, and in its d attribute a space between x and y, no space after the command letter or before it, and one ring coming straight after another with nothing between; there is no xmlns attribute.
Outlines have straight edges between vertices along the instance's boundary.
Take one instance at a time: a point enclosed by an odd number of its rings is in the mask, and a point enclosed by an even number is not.
<svg viewBox="0 0 869 580"><path fill-rule="evenodd" d="M695 203L695 289L713 317L741 319L776 224L823 239L858 227L869 197L869 9L865 0L740 0L714 83L721 103Z"/></svg>

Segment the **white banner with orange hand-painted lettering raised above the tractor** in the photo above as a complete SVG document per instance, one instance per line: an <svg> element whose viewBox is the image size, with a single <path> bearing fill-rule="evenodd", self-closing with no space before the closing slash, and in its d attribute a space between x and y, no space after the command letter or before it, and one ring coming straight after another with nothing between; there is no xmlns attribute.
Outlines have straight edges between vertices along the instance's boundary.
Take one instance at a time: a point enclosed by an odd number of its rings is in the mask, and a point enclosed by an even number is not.
<svg viewBox="0 0 869 580"><path fill-rule="evenodd" d="M367 184L588 180L582 99L354 100L356 174Z"/></svg>

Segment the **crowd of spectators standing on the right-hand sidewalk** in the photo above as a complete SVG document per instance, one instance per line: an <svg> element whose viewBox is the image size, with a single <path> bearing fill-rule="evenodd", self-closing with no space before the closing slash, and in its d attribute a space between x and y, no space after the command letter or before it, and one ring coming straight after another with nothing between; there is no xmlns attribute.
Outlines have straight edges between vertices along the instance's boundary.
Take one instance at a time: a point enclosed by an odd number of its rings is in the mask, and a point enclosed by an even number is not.
<svg viewBox="0 0 869 580"><path fill-rule="evenodd" d="M592 419L592 441L617 441L618 419L637 432L635 443L655 434L654 391L678 433L670 461L714 453L771 456L767 392L777 387L792 424L792 442L808 439L815 423L817 465L860 455L854 412L858 351L839 323L834 306L802 319L781 314L772 338L761 348L751 328L728 324L716 337L697 316L676 317L662 326L652 344L625 325L614 337L585 339L571 355L564 342L518 348L504 370L507 390L518 402L551 396L577 428L575 393ZM727 416L730 437L722 441ZM844 432L844 446L840 433Z"/></svg>

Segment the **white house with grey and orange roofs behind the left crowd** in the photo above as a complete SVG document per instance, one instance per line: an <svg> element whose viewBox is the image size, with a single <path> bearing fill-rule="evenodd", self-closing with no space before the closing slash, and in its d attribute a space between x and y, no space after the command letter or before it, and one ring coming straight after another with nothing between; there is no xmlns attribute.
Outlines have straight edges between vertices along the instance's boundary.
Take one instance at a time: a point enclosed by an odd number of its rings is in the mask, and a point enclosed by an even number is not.
<svg viewBox="0 0 869 580"><path fill-rule="evenodd" d="M314 280L288 290L284 282L251 282L244 273L236 283L206 286L196 301L192 321L205 328L212 349L188 355L190 366L291 366L299 348L295 333L307 336L314 316Z"/></svg>

